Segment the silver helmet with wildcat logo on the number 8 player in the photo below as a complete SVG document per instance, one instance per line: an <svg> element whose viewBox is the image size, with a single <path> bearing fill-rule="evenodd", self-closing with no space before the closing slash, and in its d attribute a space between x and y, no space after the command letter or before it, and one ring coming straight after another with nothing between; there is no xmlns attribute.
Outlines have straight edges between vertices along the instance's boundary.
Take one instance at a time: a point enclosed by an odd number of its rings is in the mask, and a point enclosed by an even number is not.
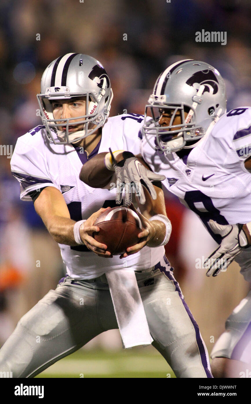
<svg viewBox="0 0 251 404"><path fill-rule="evenodd" d="M168 126L159 124L163 112L170 114ZM218 70L208 63L185 59L168 66L158 77L145 108L143 134L156 150L191 148L225 112L226 88ZM176 113L180 114L181 124L173 125ZM154 146L149 141L153 135Z"/></svg>

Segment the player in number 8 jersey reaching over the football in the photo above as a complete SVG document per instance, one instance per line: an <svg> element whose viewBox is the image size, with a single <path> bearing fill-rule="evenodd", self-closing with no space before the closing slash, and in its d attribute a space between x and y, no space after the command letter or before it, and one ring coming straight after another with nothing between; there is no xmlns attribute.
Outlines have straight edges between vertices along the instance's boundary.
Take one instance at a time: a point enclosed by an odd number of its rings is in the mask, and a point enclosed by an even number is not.
<svg viewBox="0 0 251 404"><path fill-rule="evenodd" d="M219 244L205 261L207 276L217 276L235 259L251 282L251 108L226 113L220 73L208 63L178 61L158 77L140 137L144 161L166 176L166 189L199 216ZM139 181L152 193L151 172L139 162L136 171L133 154L116 159L121 160L120 166L113 165L118 178ZM250 340L251 292L226 320L226 331L214 345L214 377L245 372L251 364Z"/></svg>

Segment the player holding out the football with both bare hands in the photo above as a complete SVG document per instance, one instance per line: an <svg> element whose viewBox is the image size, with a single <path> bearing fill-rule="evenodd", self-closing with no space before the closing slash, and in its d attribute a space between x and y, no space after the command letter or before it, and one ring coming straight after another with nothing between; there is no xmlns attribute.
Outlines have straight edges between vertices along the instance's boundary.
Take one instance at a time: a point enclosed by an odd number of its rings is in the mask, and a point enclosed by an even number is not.
<svg viewBox="0 0 251 404"><path fill-rule="evenodd" d="M77 53L46 68L37 99L43 125L17 140L11 169L20 182L21 199L33 200L58 242L67 274L21 318L0 350L0 370L34 377L101 332L118 328L107 274L126 268L135 273L153 345L175 375L212 377L199 328L164 256L171 227L160 181L151 183L156 200L147 196L140 206L142 240L132 246L134 254L112 257L92 237L99 231L95 219L116 205L116 187L88 186L79 179L80 170L109 147L138 154L140 139L134 133L143 116L108 118L112 89L106 70ZM159 179L154 173L149 177Z"/></svg>

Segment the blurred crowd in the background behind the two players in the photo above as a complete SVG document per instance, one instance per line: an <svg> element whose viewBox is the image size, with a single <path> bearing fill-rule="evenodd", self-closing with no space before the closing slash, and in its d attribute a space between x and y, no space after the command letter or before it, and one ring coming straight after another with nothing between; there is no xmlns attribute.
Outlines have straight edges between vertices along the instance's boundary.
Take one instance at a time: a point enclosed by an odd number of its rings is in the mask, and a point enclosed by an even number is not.
<svg viewBox="0 0 251 404"><path fill-rule="evenodd" d="M144 114L160 72L186 58L206 61L220 71L226 82L228 110L251 106L250 18L250 0L2 0L0 144L14 149L17 137L41 123L35 97L40 92L41 75L52 60L69 52L91 55L104 65L114 92L110 116L125 110ZM195 32L202 29L227 32L226 45L195 42ZM166 194L166 206L174 228L167 253L176 266L176 278L188 294L197 290L197 299L203 299L205 275L203 271L195 274L194 262L195 257L209 254L214 243L195 215L170 194ZM198 239L194 231L189 234L190 223L198 226ZM56 287L65 271L57 245L32 202L19 201L19 184L10 174L10 158L2 155L0 231L1 343L20 316L49 288ZM216 326L221 324L221 328L215 335L222 332L226 313L230 314L245 295L246 285L238 277L238 268L234 271L239 295L234 301L231 292L225 292L230 303L220 315ZM222 282L212 287L221 289ZM31 287L32 296L28 292ZM201 307L197 302L195 311Z"/></svg>

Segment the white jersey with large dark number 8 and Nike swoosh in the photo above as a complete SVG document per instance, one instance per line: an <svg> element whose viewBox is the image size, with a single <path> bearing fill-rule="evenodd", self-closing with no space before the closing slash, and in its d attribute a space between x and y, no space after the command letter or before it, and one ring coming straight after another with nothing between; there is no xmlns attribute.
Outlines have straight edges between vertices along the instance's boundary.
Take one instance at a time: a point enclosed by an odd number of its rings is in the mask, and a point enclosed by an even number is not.
<svg viewBox="0 0 251 404"><path fill-rule="evenodd" d="M154 145L154 136L150 139ZM162 184L201 219L216 242L210 219L219 224L251 221L251 173L244 166L251 156L251 108L232 109L194 147L185 164L176 153L154 151L145 137L141 155Z"/></svg>

